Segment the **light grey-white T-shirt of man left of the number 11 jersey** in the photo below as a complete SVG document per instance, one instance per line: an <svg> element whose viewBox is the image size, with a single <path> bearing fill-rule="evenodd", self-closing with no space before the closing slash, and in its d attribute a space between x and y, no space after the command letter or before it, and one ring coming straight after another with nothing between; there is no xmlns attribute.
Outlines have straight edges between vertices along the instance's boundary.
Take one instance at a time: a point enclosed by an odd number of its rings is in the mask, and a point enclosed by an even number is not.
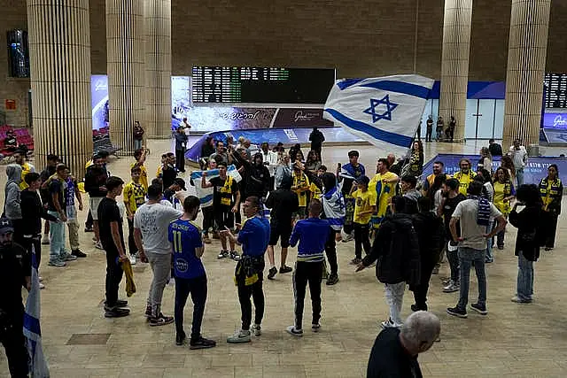
<svg viewBox="0 0 567 378"><path fill-rule="evenodd" d="M163 204L143 204L134 214L134 228L142 232L144 251L167 254L171 253L171 244L167 239L169 223L181 217L183 212Z"/></svg>

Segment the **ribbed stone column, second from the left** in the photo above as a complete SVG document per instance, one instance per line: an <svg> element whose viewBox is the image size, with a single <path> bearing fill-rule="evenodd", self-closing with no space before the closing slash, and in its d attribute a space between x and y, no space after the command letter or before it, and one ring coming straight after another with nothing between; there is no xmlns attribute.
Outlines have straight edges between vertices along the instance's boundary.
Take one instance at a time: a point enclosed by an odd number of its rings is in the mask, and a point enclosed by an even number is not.
<svg viewBox="0 0 567 378"><path fill-rule="evenodd" d="M144 0L106 0L110 139L134 151L134 122L144 125Z"/></svg>

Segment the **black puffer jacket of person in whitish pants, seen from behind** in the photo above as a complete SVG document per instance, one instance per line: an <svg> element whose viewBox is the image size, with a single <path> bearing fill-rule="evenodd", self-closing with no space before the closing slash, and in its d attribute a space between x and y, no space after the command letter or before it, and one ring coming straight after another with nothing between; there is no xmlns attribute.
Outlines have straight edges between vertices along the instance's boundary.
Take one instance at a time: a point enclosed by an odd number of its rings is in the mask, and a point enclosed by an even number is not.
<svg viewBox="0 0 567 378"><path fill-rule="evenodd" d="M364 266L377 261L379 282L408 282L417 285L420 280L420 256L416 230L408 214L386 216L374 239L372 250L363 260Z"/></svg>

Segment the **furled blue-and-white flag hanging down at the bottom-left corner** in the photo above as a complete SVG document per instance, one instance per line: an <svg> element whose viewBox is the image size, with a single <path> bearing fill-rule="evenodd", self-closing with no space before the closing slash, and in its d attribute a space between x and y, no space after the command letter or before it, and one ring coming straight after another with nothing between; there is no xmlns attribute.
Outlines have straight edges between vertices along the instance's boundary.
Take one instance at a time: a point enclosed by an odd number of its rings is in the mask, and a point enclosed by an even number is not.
<svg viewBox="0 0 567 378"><path fill-rule="evenodd" d="M40 289L37 274L37 260L32 247L32 289L29 290L24 314L24 336L26 336L27 353L29 354L29 372L32 378L47 378L50 368L43 356L42 330L40 320Z"/></svg>

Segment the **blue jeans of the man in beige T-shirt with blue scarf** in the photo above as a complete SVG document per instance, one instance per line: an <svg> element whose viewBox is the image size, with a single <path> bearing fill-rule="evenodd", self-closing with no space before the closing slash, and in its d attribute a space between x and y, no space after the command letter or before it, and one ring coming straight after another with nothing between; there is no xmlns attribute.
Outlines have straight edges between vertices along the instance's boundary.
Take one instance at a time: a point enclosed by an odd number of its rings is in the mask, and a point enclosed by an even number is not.
<svg viewBox="0 0 567 378"><path fill-rule="evenodd" d="M473 250L472 248L459 247L459 264L461 265L461 292L457 307L466 310L469 303L470 266L474 262L478 280L478 305L486 305L486 274L485 274L486 250Z"/></svg>

